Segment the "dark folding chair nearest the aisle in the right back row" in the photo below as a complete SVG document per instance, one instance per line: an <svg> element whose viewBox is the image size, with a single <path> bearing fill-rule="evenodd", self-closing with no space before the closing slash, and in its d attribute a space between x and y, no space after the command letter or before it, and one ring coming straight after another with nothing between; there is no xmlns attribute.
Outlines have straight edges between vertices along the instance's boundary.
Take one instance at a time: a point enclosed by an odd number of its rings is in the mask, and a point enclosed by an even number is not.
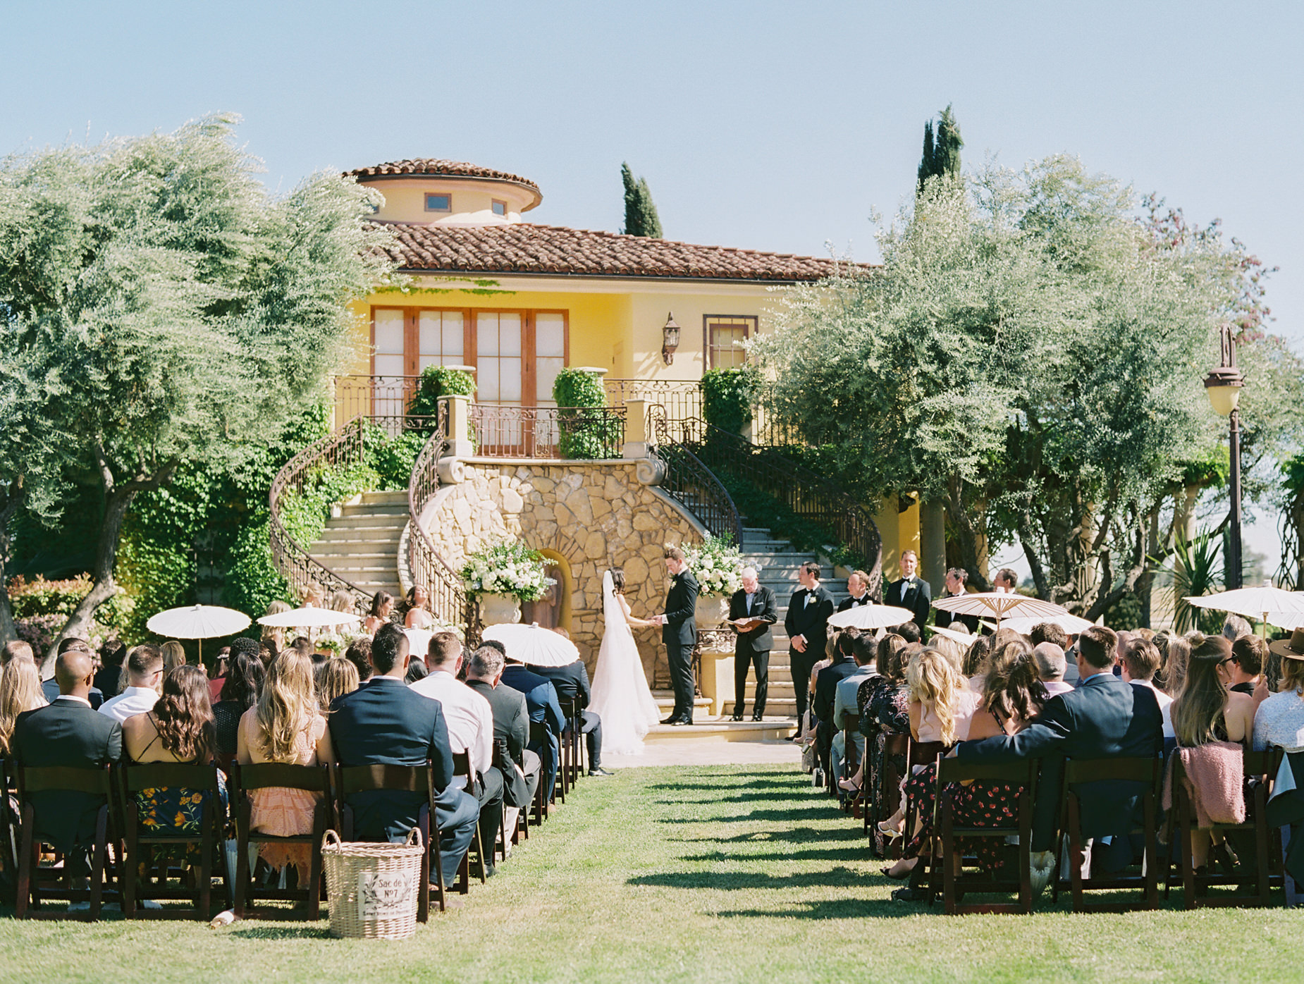
<svg viewBox="0 0 1304 984"><path fill-rule="evenodd" d="M936 820L934 832L941 843L941 899L947 915L966 912L1022 912L1033 911L1033 803L1037 799L1038 760L1024 759L1013 762L987 762L965 759L941 759L938 764ZM1022 787L1016 807L1017 818L1007 826L958 825L955 818L956 783L964 781L1000 782ZM964 854L957 850L956 838L994 839L1000 845L1007 837L1018 838L1018 877L995 878L987 876L961 877L957 861ZM934 877L936 864L934 865ZM1018 902L960 904L960 893L1017 891Z"/></svg>

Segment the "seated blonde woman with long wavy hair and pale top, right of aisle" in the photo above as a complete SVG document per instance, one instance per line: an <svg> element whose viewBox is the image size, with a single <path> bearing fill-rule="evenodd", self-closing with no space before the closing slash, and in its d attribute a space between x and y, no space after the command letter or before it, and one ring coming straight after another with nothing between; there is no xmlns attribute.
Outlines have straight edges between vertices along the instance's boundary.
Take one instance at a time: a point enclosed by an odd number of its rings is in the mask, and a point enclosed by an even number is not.
<svg viewBox="0 0 1304 984"><path fill-rule="evenodd" d="M1013 649L1016 644L1011 643L1007 648ZM935 649L925 649L910 662L906 683L910 686L910 738L914 742L941 742L947 745L964 742L982 697L965 686L964 676L952 669L947 658ZM906 877L919 855L930 851L936 766L931 762L914 766L902 791L914 809L914 830L902 829L905 804L896 816L879 822L882 833L908 837L901 860L883 869L891 878Z"/></svg>

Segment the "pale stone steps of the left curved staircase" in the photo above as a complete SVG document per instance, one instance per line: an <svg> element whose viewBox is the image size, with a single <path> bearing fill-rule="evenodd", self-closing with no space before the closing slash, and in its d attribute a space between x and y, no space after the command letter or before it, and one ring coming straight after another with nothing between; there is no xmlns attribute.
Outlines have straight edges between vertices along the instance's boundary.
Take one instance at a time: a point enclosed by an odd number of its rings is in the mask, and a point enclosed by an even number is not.
<svg viewBox="0 0 1304 984"><path fill-rule="evenodd" d="M308 553L368 594L386 590L398 598L396 558L407 521L406 491L365 491L331 510Z"/></svg>

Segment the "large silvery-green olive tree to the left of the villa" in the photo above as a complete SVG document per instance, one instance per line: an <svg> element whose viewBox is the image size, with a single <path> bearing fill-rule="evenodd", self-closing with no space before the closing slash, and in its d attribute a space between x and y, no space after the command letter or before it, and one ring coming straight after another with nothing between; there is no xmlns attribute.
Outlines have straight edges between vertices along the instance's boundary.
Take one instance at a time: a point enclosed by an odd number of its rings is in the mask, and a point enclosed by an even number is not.
<svg viewBox="0 0 1304 984"><path fill-rule="evenodd" d="M390 272L374 192L321 173L274 198L235 123L0 166L0 485L51 520L64 484L104 494L65 635L115 590L132 499L275 441L325 394L346 304Z"/></svg>

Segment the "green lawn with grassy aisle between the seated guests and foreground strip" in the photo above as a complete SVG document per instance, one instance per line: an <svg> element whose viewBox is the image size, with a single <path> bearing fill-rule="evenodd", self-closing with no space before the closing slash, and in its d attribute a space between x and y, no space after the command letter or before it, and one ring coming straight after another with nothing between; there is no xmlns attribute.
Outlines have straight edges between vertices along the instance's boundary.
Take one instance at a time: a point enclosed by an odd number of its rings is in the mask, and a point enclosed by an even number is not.
<svg viewBox="0 0 1304 984"><path fill-rule="evenodd" d="M464 908L406 942L327 923L20 923L0 980L1299 980L1304 914L947 918L889 901L859 826L790 766L587 779ZM1180 893L1174 894L1174 904Z"/></svg>

